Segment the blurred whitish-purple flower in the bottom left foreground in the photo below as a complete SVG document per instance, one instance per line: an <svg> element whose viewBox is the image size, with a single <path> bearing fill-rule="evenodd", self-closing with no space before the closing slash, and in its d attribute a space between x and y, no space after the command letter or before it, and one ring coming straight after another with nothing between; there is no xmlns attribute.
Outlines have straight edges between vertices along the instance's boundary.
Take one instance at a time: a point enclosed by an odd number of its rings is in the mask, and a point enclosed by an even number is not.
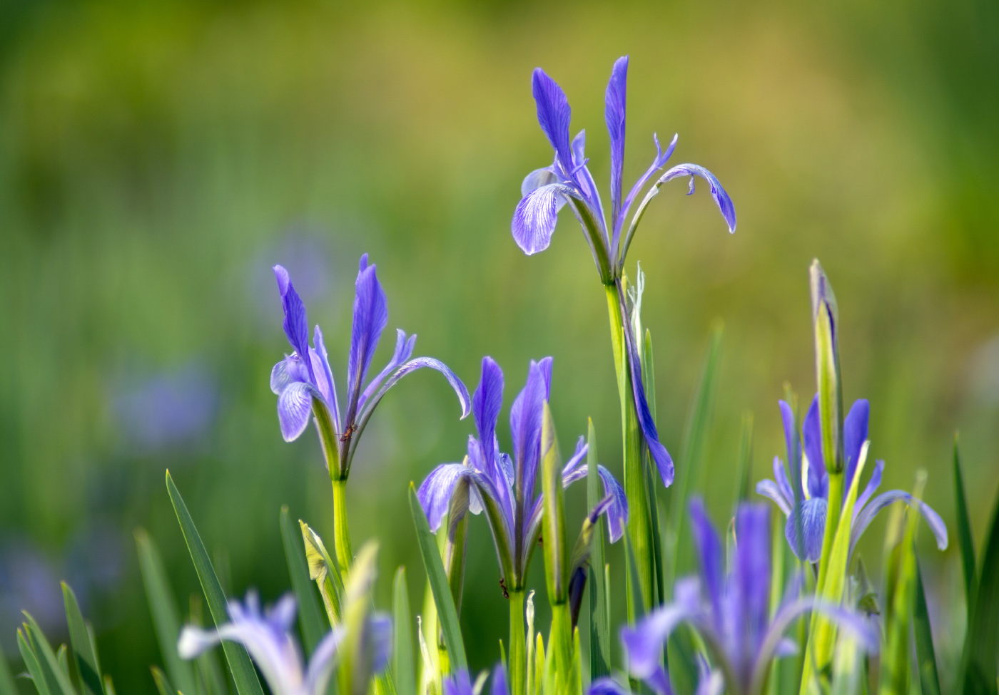
<svg viewBox="0 0 999 695"><path fill-rule="evenodd" d="M231 622L217 630L185 626L177 644L181 657L193 659L222 640L239 642L253 657L274 695L325 695L343 629L330 631L320 641L306 669L292 636L295 598L291 594L262 613L260 599L250 592L245 604L229 602L229 619Z"/></svg>

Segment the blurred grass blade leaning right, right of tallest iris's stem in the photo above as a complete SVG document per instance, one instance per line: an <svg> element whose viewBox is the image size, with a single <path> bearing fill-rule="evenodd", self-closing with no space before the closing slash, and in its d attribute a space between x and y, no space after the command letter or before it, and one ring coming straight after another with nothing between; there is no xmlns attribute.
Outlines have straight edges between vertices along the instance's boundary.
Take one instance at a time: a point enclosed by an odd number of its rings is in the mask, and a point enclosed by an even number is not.
<svg viewBox="0 0 999 695"><path fill-rule="evenodd" d="M676 471L677 480L673 484L669 500L669 564L665 567L667 581L665 590L672 591L676 576L676 563L683 535L683 517L686 514L687 488L691 469L700 469L704 459L704 445L710 428L711 413L714 409L714 393L718 382L718 361L721 356L721 336L724 325L716 321L711 328L711 338L700 372L700 382L687 412L686 427L683 432L683 447L680 464Z"/></svg>

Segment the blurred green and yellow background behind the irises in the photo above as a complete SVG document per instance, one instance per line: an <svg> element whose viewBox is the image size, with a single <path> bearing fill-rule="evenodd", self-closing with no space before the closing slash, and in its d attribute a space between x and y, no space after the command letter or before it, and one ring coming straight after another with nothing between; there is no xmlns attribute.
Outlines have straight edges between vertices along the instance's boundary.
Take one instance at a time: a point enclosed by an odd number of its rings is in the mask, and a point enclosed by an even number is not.
<svg viewBox="0 0 999 695"><path fill-rule="evenodd" d="M651 133L678 132L673 161L713 171L738 213L730 237L706 187L685 198L672 184L629 255L648 276L658 423L674 456L709 327L725 324L694 473L716 519L729 513L741 413L755 412L758 479L783 455L783 382L810 398L818 257L839 299L844 395L871 399L885 485L908 488L926 468L927 501L954 539L960 429L981 542L999 482L997 15L960 0L0 3L0 646L16 653L22 608L58 639L68 578L119 692L152 689L161 658L132 530L160 544L179 598L197 591L167 467L235 593L273 600L289 586L281 504L329 533L316 436L282 440L268 387L289 349L275 263L341 374L364 252L390 331L418 333L418 354L470 390L492 354L508 407L527 360L554 355L562 448L592 416L600 458L619 471L588 250L566 215L551 248L526 258L509 219L521 178L550 162L531 69L565 89L602 185L603 89L624 53L626 185ZM406 484L461 458L473 424L458 415L444 379L420 372L365 434L352 534L356 547L381 538L382 605L403 562L420 604ZM569 495L573 513L583 496ZM883 528L862 544L875 573ZM963 630L957 544L939 553L927 536L948 662ZM482 519L472 539L463 619L485 667L506 607Z"/></svg>

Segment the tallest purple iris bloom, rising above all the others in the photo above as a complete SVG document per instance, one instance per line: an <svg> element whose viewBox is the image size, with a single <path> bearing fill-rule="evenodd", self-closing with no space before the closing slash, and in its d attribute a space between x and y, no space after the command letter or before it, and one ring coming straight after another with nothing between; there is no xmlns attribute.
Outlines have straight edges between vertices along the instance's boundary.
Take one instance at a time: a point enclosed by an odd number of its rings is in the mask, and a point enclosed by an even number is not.
<svg viewBox="0 0 999 695"><path fill-rule="evenodd" d="M586 168L585 131L579 131L575 138L569 141L571 109L565 93L543 70L535 68L531 86L537 104L537 122L551 143L554 161L551 166L533 171L523 180L520 186L523 198L516 206L511 224L513 240L517 246L528 256L536 254L548 248L558 211L568 205L582 225L583 234L589 243L600 280L604 285L609 285L620 278L628 246L646 206L658 193L659 188L671 179L689 177L690 193L693 193L694 176L706 180L729 232L735 231L735 207L731 199L714 175L696 164L680 164L659 176L625 227L624 223L635 198L649 180L665 166L673 154L677 138L674 135L663 152L658 138L652 136L652 141L655 143L655 157L645 173L624 196L622 172L627 64L627 56L618 58L614 63L605 97L604 119L610 134L609 217L604 211L593 177Z"/></svg>

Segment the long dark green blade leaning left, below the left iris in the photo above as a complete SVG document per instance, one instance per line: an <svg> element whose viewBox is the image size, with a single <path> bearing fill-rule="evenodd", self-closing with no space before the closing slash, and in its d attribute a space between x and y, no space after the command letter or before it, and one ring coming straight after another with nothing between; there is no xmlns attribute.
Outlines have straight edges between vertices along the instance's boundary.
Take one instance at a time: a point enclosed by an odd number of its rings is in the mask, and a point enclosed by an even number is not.
<svg viewBox="0 0 999 695"><path fill-rule="evenodd" d="M170 501L173 502L174 511L177 512L177 520L181 524L181 531L184 533L184 541L191 552L191 560L194 562L195 571L201 581L201 588L205 592L205 599L208 601L208 609L212 613L212 619L216 626L229 621L229 611L226 608L226 595L222 592L219 578L212 568L212 561L208 557L205 544L198 535L198 529L194 525L194 520L188 512L184 498L181 497L180 490L174 484L174 479L167 471L167 491L170 493ZM222 648L226 653L226 661L229 662L229 670L233 674L236 682L236 690L239 695L263 695L260 680L254 670L253 663L246 648L236 642L224 641ZM109 694L110 695L110 694Z"/></svg>

